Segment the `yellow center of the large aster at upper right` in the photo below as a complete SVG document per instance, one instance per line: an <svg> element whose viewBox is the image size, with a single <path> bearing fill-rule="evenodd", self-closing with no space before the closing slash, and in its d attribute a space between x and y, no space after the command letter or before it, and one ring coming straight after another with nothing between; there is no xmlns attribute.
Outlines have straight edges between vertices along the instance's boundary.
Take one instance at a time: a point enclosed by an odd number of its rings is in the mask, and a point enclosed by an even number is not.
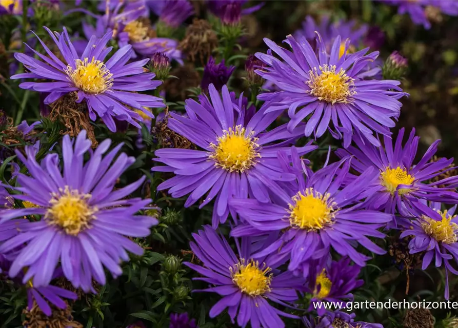
<svg viewBox="0 0 458 328"><path fill-rule="evenodd" d="M345 70L336 72L335 69L335 65L324 65L319 71L316 68L311 70L307 81L310 94L331 104L347 103L348 98L356 94L353 79L345 74Z"/></svg>

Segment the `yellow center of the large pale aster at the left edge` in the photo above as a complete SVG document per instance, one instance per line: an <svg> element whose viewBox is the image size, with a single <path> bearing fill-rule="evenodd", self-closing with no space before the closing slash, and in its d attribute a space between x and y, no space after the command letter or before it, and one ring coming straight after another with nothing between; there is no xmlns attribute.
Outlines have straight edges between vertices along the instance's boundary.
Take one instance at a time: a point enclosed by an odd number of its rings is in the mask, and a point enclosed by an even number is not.
<svg viewBox="0 0 458 328"><path fill-rule="evenodd" d="M50 207L45 219L51 225L58 226L68 235L76 236L82 230L89 228L89 223L97 211L88 204L89 194L80 194L77 190L70 190L68 186L61 194L53 194Z"/></svg>

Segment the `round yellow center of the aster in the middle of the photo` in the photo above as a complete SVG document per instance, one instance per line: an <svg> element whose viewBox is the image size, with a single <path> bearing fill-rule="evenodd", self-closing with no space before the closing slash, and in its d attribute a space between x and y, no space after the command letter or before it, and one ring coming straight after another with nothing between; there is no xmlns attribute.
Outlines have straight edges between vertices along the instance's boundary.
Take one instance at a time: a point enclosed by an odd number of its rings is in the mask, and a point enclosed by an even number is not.
<svg viewBox="0 0 458 328"><path fill-rule="evenodd" d="M253 138L254 132L246 135L245 128L241 125L234 129L223 131L223 136L217 137L217 145L210 144L214 150L208 156L215 161L215 165L230 172L244 172L256 163L256 158L261 157L257 152L260 148L256 144L257 138Z"/></svg>

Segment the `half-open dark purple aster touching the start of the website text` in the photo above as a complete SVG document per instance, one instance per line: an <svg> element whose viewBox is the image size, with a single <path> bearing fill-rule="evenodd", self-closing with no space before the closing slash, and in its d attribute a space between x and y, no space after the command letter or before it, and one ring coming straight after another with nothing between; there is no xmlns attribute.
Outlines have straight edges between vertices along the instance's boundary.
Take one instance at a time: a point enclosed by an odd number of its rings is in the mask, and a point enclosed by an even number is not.
<svg viewBox="0 0 458 328"><path fill-rule="evenodd" d="M329 312L324 306L320 306L323 302L353 300L351 291L364 284L363 280L357 279L361 267L350 265L350 258L343 257L339 261L327 262L325 265L313 263L308 279L307 292L312 294L309 310L315 310L319 316Z"/></svg>

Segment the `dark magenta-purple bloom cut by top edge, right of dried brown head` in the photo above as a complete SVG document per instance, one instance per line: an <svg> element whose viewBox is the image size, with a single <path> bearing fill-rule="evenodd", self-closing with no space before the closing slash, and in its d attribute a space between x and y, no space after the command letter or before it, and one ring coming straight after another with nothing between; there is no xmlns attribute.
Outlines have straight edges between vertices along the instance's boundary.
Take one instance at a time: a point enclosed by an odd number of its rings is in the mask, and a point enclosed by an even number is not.
<svg viewBox="0 0 458 328"><path fill-rule="evenodd" d="M249 15L264 6L264 2L256 6L242 9L248 0L208 0L207 6L211 13L219 17L224 24L240 23L242 15Z"/></svg>

